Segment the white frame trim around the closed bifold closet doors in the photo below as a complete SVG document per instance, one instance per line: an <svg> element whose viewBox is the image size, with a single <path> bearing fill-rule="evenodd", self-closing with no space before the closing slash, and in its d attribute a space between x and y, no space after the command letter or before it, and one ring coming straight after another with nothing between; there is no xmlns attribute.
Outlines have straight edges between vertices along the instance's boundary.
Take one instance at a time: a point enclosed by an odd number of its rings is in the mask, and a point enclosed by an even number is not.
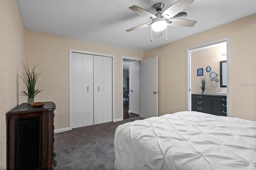
<svg viewBox="0 0 256 170"><path fill-rule="evenodd" d="M104 56L104 57L112 57L112 122L114 122L115 120L115 77L114 77L114 55L109 55L109 54L102 54L102 53L93 53L93 52L88 52L88 51L80 51L80 50L75 50L75 49L69 49L69 61L68 61L68 64L69 64L69 96L71 96L71 79L70 79L70 76L71 76L71 56L72 56L72 52L76 52L76 53L83 53L83 54L91 54L91 55L100 55L100 56ZM69 112L69 127L72 128L72 114L70 113L70 98L68 97L68 102L69 102L69 109L68 109L68 112Z"/></svg>

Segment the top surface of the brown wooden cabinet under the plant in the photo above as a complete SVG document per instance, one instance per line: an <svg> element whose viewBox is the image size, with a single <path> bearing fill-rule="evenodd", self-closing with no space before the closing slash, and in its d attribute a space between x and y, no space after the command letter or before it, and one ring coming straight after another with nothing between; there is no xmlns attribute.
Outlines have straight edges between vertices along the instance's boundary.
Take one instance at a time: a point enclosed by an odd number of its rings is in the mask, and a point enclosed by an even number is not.
<svg viewBox="0 0 256 170"><path fill-rule="evenodd" d="M11 111L9 111L7 114L23 112L23 111L26 111L26 112L51 111L51 110L54 110L56 107L55 103L53 103L53 102L46 101L44 103L45 104L43 107L32 107L32 105L30 105L28 103L22 103L21 105L15 107Z"/></svg>

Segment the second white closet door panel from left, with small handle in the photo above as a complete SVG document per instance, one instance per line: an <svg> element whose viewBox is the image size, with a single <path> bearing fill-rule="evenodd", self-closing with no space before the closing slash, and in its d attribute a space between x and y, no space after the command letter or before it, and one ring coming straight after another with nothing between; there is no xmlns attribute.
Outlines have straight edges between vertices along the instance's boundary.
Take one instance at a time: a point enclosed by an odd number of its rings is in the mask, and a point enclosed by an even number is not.
<svg viewBox="0 0 256 170"><path fill-rule="evenodd" d="M82 54L83 126L93 125L93 55Z"/></svg>

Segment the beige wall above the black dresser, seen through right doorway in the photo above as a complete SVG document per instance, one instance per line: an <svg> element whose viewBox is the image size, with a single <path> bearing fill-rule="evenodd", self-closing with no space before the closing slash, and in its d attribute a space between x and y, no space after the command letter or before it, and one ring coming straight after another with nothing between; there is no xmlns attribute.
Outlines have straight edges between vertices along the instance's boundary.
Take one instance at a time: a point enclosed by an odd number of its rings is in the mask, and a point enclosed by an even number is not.
<svg viewBox="0 0 256 170"><path fill-rule="evenodd" d="M220 87L220 81L211 81L209 76L212 71L215 71L218 74L217 78L220 80L220 61L227 59L226 55L221 55L222 51L226 51L226 44L191 52L191 93L202 92L200 87L203 76L197 76L198 68L203 68L206 79L206 94L216 94L218 91L226 91L225 87ZM211 67L210 72L206 71L207 66Z"/></svg>

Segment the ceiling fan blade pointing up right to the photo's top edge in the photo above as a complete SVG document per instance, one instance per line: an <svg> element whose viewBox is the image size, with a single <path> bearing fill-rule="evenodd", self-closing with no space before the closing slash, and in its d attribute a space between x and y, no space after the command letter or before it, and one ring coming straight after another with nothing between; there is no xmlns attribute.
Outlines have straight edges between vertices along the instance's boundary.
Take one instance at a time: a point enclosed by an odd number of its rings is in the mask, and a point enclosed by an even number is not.
<svg viewBox="0 0 256 170"><path fill-rule="evenodd" d="M179 0L178 2L167 8L161 14L161 16L166 19L172 18L173 16L184 10L187 6L192 4L192 2L194 2L194 0Z"/></svg>

